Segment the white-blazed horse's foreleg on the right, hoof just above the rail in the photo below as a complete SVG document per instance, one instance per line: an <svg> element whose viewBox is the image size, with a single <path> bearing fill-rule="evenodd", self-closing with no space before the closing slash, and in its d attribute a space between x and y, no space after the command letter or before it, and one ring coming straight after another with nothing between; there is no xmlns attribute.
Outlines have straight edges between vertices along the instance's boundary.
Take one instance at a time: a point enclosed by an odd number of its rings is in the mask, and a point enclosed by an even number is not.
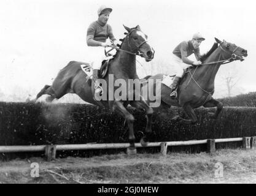
<svg viewBox="0 0 256 196"><path fill-rule="evenodd" d="M147 146L147 141L149 141L149 135L152 133L152 115L153 109L147 105L143 100L137 100L130 103L131 106L138 108L139 110L145 111L147 117L147 125L145 127L145 136L141 138L141 145Z"/></svg>

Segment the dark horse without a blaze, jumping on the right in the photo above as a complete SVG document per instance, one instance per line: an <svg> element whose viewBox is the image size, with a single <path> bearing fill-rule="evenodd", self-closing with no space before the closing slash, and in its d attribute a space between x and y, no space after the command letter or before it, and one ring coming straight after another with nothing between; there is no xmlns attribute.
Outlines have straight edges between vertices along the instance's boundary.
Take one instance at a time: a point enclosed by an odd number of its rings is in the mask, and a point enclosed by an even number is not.
<svg viewBox="0 0 256 196"><path fill-rule="evenodd" d="M159 95L157 99L161 99L160 108L168 109L169 105L183 108L182 116L175 116L173 121L183 124L195 124L197 118L193 108L201 106L207 108L217 107L215 113L209 113L211 118L214 119L217 118L222 110L223 104L212 98L212 94L214 93L215 75L221 64L238 59L242 61L242 56L247 56L247 50L244 50L241 47L236 47L235 44L228 43L225 40L223 40L223 42L216 38L215 40L217 43L214 43L211 50L206 55L202 56L201 61L203 64L187 69L187 72L180 81L180 86L177 89L177 99L171 99L171 89L163 83L160 83L161 88L159 89L161 92L156 92L156 79L163 80L164 74L157 74L151 77L147 76L147 78L145 78L147 82L145 83L144 88L151 89L151 91ZM150 83L149 80L152 79L153 82ZM150 103L150 100L147 100L147 102Z"/></svg>

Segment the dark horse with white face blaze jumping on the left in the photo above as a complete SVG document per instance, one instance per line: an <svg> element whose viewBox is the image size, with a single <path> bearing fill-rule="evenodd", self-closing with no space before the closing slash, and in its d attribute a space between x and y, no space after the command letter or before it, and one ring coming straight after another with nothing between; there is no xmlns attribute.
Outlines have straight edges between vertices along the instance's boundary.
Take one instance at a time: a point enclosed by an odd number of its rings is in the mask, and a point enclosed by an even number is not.
<svg viewBox="0 0 256 196"><path fill-rule="evenodd" d="M114 75L114 81L117 79L123 79L126 83L125 92L128 94L139 94L139 100L130 100L128 96L125 99L109 99L110 87L107 86L106 92L107 99L96 101L94 99L93 92L91 91L91 82L86 82L86 74L80 68L80 65L88 65L85 62L71 61L58 73L57 77L52 83L52 86L45 85L45 87L37 94L36 99L41 97L43 94L48 94L48 101L53 99L60 99L67 93L76 93L81 99L89 102L90 104L100 105L109 108L112 111L117 112L119 115L125 118L129 129L129 142L130 147L127 149L128 153L136 153L136 148L134 145L134 131L133 122L134 117L131 113L126 110L128 104L132 107L138 108L145 112L147 116L147 126L145 127L145 136L142 137L142 145L147 145L147 135L152 132L152 108L147 105L147 103L142 100L140 96L140 89L134 88L134 85L128 85L129 79L139 79L136 73L136 55L140 55L145 58L145 61L151 61L154 56L153 48L147 43L147 36L141 31L141 28L136 26L136 28L128 28L124 26L126 31L126 37L122 39L122 44L120 48L117 48L117 53L114 58L109 61L109 66L107 69L107 74L103 77L106 83L109 83L109 75ZM130 80L129 80L130 81ZM122 86L123 87L123 86ZM114 86L114 91L117 89ZM123 91L122 91L123 92Z"/></svg>

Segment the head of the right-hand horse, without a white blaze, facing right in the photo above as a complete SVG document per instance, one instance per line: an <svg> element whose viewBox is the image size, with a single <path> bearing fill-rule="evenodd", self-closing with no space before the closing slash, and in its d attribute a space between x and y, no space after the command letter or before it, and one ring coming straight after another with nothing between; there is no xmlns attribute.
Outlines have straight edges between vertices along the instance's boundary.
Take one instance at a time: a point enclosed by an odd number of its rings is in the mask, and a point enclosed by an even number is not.
<svg viewBox="0 0 256 196"><path fill-rule="evenodd" d="M243 56L247 56L247 50L244 50L244 48L238 47L235 45L235 43L226 42L225 40L220 41L219 39L215 38L217 43L220 43L220 48L225 51L227 54L227 58L231 56L233 60L240 60L243 61Z"/></svg>

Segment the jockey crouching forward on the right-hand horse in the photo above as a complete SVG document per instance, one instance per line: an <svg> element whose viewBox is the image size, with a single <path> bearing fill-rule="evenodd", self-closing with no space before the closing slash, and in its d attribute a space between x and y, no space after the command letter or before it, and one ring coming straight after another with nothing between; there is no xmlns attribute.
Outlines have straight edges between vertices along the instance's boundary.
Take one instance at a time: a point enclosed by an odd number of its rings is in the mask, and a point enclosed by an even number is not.
<svg viewBox="0 0 256 196"><path fill-rule="evenodd" d="M177 86L179 84L180 78L184 74L184 69L190 66L200 66L202 63L199 59L200 55L200 44L205 40L203 36L199 32L193 35L192 40L184 41L179 43L177 47L173 50L173 62L176 67L176 77L173 80L173 89L171 92L171 98L175 99L177 97ZM191 61L188 59L188 56L195 54L196 61Z"/></svg>

